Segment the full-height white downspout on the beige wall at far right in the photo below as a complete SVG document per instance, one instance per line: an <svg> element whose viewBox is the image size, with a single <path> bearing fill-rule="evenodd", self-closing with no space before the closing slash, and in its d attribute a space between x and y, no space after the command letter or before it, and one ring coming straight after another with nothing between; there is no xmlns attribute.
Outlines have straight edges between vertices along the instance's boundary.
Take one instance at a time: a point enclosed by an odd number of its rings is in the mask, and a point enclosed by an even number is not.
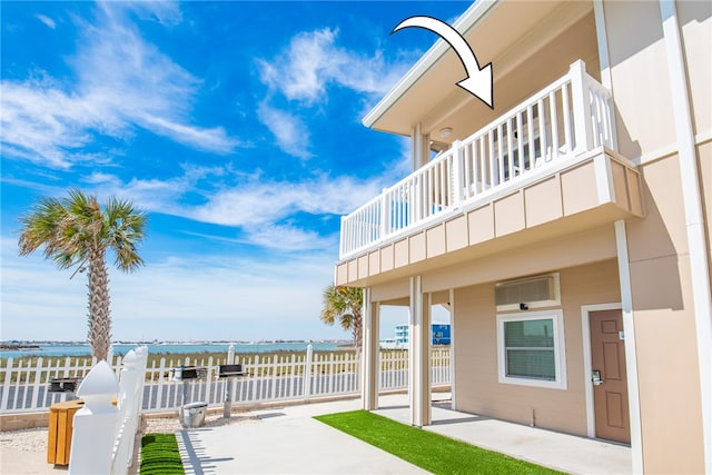
<svg viewBox="0 0 712 475"><path fill-rule="evenodd" d="M660 0L673 99L700 366L704 471L712 474L712 294L690 91L674 0Z"/></svg>

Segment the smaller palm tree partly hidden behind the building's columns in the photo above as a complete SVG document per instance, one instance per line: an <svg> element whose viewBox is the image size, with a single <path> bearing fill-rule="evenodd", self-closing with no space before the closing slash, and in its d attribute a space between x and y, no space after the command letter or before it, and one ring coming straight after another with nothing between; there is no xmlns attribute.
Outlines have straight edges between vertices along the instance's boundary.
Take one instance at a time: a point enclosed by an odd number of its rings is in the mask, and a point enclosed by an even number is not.
<svg viewBox="0 0 712 475"><path fill-rule="evenodd" d="M334 325L338 321L342 328L352 330L356 356L360 358L364 290L358 287L330 285L324 290L323 300L322 321L327 325Z"/></svg>

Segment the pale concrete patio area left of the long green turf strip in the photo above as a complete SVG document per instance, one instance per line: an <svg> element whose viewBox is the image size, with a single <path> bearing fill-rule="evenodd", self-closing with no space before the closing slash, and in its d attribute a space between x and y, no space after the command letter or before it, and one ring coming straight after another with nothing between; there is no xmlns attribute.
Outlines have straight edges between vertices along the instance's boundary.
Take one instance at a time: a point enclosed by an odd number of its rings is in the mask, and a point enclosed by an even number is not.
<svg viewBox="0 0 712 475"><path fill-rule="evenodd" d="M358 399L251 410L258 423L178 433L186 474L426 474L313 417Z"/></svg>

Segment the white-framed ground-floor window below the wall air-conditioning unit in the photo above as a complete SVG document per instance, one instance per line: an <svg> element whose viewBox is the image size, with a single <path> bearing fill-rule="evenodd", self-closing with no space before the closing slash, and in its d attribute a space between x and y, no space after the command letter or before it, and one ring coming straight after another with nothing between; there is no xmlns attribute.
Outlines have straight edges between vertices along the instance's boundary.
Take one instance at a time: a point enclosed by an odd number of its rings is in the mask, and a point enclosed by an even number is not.
<svg viewBox="0 0 712 475"><path fill-rule="evenodd" d="M561 310L497 316L500 383L566 389Z"/></svg>

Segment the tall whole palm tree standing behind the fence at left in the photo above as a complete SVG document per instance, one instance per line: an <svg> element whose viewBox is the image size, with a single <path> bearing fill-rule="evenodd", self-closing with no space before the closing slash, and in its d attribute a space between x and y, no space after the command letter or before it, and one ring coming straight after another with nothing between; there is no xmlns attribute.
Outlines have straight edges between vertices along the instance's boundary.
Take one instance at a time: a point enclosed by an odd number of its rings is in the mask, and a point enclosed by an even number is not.
<svg viewBox="0 0 712 475"><path fill-rule="evenodd" d="M111 344L107 249L116 254L116 267L134 271L144 265L136 246L144 239L146 215L129 201L109 199L99 206L96 196L70 189L66 198L43 198L20 218L20 256L44 247L46 259L60 269L76 267L89 278L89 333L91 354L107 359Z"/></svg>

